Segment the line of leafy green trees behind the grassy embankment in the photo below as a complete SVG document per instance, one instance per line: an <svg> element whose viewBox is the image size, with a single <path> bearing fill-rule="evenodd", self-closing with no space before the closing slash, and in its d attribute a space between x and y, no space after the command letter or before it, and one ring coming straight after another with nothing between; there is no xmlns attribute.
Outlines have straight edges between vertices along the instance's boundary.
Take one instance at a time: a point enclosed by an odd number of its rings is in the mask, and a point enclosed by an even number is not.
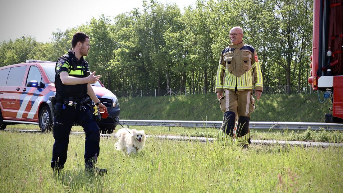
<svg viewBox="0 0 343 193"><path fill-rule="evenodd" d="M0 43L0 66L27 59L57 61L72 35L90 36L90 69L111 91L179 88L181 93L214 92L221 51L234 26L257 49L265 92L287 85L300 92L309 77L312 0L198 0L183 11L176 4L143 1L143 9L101 15L86 24L53 32L40 43L31 36ZM291 90L297 85L297 90Z"/></svg>

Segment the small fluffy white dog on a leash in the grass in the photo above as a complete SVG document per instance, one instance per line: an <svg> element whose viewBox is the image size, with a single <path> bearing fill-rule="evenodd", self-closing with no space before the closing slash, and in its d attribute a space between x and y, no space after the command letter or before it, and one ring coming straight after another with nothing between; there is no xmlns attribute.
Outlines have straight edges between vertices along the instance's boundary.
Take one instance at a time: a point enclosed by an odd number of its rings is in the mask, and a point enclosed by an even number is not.
<svg viewBox="0 0 343 193"><path fill-rule="evenodd" d="M146 136L144 130L122 128L117 131L116 135L119 138L116 143L117 150L126 151L128 154L137 153L145 145Z"/></svg>

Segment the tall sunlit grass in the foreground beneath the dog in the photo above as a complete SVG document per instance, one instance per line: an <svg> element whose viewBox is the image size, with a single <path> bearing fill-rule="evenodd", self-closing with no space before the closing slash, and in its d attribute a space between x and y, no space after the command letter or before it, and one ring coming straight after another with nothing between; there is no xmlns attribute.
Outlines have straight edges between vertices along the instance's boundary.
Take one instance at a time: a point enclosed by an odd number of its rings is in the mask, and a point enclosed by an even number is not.
<svg viewBox="0 0 343 193"><path fill-rule="evenodd" d="M149 133L148 133L149 134ZM0 192L341 192L342 147L258 146L147 138L142 152L100 139L98 167L83 171L84 135L70 136L62 174L50 168L51 134L0 132Z"/></svg>

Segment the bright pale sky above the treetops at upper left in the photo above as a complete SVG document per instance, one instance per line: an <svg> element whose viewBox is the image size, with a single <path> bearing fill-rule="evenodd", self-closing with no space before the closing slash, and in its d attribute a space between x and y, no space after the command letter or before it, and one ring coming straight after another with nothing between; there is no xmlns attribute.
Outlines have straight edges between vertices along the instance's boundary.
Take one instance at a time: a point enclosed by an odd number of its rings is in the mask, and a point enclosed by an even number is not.
<svg viewBox="0 0 343 193"><path fill-rule="evenodd" d="M149 0L147 0L149 2ZM196 0L158 0L184 7ZM34 36L38 42L50 42L52 32L86 24L92 17L139 8L143 0L0 0L0 42L22 36ZM71 19L73 18L73 19Z"/></svg>

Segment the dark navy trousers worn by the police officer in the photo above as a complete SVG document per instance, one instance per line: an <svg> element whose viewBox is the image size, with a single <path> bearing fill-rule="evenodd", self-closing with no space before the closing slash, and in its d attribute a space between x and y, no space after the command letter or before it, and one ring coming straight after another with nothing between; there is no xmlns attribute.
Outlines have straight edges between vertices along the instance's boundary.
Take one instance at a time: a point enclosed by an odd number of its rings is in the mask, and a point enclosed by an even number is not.
<svg viewBox="0 0 343 193"><path fill-rule="evenodd" d="M55 115L53 127L55 143L52 146L51 168L64 167L67 161L70 130L74 122L82 126L86 133L85 163L92 167L95 154L99 155L99 127L95 122L92 107L88 105L84 107L85 110L80 110L79 105L76 107L64 105L61 115Z"/></svg>

